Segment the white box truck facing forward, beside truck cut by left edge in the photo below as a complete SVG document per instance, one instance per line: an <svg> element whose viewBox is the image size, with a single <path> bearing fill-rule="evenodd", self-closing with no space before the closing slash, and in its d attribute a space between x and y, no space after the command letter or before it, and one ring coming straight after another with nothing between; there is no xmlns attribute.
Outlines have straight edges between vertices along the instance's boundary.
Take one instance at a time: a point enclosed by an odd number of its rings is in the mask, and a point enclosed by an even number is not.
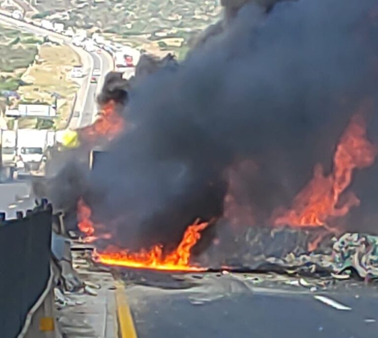
<svg viewBox="0 0 378 338"><path fill-rule="evenodd" d="M17 168L25 172L38 170L49 145L47 130L19 129L17 131Z"/></svg>

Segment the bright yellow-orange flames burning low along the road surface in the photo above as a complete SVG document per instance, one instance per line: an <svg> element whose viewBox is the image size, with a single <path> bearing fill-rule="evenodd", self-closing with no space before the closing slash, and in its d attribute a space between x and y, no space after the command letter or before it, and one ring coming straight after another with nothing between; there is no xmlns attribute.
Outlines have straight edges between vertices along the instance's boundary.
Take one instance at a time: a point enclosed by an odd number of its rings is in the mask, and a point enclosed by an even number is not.
<svg viewBox="0 0 378 338"><path fill-rule="evenodd" d="M108 251L96 254L96 260L106 265L114 265L129 268L155 269L155 270L178 270L178 271L201 271L205 268L191 266L190 251L201 238L200 232L209 225L208 222L194 223L185 231L184 236L177 248L163 255L162 245L154 245L149 251L142 249L139 252L128 250Z"/></svg>

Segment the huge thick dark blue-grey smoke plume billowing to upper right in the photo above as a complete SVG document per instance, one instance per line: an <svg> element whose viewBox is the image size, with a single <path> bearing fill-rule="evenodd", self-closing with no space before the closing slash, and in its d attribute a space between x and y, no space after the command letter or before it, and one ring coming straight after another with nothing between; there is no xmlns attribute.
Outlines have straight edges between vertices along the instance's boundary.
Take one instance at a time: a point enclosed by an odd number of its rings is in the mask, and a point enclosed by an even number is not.
<svg viewBox="0 0 378 338"><path fill-rule="evenodd" d="M377 138L377 2L242 2L180 67L160 68L129 91L133 128L110 145L85 193L116 244L173 245L195 218L220 217L224 172L244 159L257 166L244 203L267 224L315 163L330 169L338 138L367 99ZM377 203L378 181L368 182Z"/></svg>

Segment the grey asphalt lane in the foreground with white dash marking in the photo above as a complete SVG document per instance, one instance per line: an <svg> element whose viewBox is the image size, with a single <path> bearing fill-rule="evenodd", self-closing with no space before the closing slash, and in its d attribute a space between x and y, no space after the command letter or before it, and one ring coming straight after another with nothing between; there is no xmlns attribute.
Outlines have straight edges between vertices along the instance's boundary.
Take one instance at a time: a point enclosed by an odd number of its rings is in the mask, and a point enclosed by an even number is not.
<svg viewBox="0 0 378 338"><path fill-rule="evenodd" d="M349 283L311 292L302 286L246 285L240 276L194 276L202 279L192 278L197 285L182 289L135 285L125 278L134 329L125 326L122 337L133 330L138 338L378 337L376 286Z"/></svg>

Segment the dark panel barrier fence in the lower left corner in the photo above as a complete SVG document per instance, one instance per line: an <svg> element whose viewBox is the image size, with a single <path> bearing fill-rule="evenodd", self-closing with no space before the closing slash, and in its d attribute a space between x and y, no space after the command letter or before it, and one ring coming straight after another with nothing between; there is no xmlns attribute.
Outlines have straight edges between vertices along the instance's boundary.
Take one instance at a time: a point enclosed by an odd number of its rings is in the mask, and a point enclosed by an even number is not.
<svg viewBox="0 0 378 338"><path fill-rule="evenodd" d="M0 218L4 214L0 214ZM52 208L0 223L0 337L14 338L50 278Z"/></svg>

